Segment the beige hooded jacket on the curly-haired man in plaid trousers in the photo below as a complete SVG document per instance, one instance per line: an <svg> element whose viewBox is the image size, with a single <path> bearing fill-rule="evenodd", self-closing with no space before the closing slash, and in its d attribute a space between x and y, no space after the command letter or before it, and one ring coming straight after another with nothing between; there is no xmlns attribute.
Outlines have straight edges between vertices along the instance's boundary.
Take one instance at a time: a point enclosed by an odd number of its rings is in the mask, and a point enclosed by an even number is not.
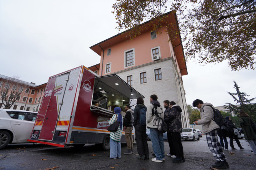
<svg viewBox="0 0 256 170"><path fill-rule="evenodd" d="M197 121L202 125L202 133L206 134L213 130L218 130L220 126L213 121L213 109L211 103L203 103L200 108L201 119Z"/></svg>

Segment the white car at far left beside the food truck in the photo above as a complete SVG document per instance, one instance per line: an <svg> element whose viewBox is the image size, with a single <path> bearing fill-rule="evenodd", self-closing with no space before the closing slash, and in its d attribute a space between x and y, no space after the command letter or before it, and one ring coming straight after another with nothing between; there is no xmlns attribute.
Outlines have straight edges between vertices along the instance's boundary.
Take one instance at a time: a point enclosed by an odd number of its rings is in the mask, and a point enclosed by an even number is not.
<svg viewBox="0 0 256 170"><path fill-rule="evenodd" d="M0 149L8 144L27 142L36 115L32 111L0 109Z"/></svg>

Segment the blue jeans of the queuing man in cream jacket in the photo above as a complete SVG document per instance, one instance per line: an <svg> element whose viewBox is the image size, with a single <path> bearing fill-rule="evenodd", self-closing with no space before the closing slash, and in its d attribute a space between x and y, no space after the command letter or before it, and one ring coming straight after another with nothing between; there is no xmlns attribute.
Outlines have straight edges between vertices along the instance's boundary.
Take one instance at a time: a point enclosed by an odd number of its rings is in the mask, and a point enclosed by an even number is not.
<svg viewBox="0 0 256 170"><path fill-rule="evenodd" d="M163 133L159 132L157 129L150 128L150 138L155 157L157 160L163 160L163 158L165 158Z"/></svg>

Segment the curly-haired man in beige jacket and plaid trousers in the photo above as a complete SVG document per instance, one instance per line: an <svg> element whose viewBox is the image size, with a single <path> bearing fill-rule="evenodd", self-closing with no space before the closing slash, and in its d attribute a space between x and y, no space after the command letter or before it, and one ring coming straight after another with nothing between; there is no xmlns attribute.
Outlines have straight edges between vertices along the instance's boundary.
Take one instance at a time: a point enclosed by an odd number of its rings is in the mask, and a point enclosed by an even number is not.
<svg viewBox="0 0 256 170"><path fill-rule="evenodd" d="M213 109L211 103L203 103L197 99L193 101L193 107L200 109L201 119L195 121L194 124L202 125L202 132L206 134L206 140L211 153L216 159L215 164L211 165L213 168L228 168L228 162L218 141L217 130L220 128L218 124L213 121Z"/></svg>

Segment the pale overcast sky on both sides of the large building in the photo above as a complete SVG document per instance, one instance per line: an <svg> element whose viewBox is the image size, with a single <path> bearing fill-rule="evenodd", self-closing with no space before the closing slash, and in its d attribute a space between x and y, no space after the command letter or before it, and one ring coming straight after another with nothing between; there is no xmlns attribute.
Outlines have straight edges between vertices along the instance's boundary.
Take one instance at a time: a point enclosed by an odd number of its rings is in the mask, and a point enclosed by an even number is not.
<svg viewBox="0 0 256 170"><path fill-rule="evenodd" d="M0 74L41 85L52 75L98 64L100 56L89 47L120 33L111 13L114 2L0 0ZM236 104L227 93L236 93L234 80L248 99L256 97L256 70L235 72L227 61L192 60L187 69L182 76L187 104L197 98L213 106Z"/></svg>

